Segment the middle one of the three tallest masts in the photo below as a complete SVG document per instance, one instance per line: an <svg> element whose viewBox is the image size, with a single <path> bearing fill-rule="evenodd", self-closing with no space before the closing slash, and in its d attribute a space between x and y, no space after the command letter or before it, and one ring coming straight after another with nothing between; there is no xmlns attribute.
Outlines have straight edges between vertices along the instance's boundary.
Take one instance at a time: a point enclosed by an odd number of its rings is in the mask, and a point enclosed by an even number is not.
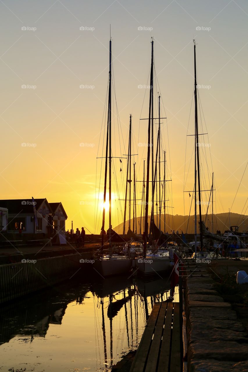
<svg viewBox="0 0 248 372"><path fill-rule="evenodd" d="M148 202L149 202L149 171L150 171L150 144L151 144L150 143L150 131L151 131L152 84L153 84L153 40L152 40L152 63L151 63L151 77L150 77L148 143L147 143L146 204L145 204L145 221L144 221L144 257L146 257L146 241L147 241L147 236L148 236ZM152 165L152 167L153 167L153 165ZM152 182L152 184L153 184L153 182Z"/></svg>

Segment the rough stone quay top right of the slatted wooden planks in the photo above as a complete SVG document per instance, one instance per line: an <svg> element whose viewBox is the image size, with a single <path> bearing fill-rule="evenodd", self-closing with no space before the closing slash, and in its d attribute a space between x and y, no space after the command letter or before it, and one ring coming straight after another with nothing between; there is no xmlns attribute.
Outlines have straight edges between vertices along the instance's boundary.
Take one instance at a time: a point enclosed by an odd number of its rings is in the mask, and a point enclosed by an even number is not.
<svg viewBox="0 0 248 372"><path fill-rule="evenodd" d="M248 334L213 284L210 276L186 280L188 371L248 371Z"/></svg>

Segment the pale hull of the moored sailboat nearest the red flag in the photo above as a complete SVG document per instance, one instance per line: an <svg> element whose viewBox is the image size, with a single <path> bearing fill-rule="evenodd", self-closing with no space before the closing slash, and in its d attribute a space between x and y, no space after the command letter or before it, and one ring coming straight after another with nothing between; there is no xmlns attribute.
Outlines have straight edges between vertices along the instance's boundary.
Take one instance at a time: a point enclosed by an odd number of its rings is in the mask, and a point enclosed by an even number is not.
<svg viewBox="0 0 248 372"><path fill-rule="evenodd" d="M149 262L152 261L152 262ZM155 274L171 270L171 260L167 258L136 259L136 267L142 274Z"/></svg>

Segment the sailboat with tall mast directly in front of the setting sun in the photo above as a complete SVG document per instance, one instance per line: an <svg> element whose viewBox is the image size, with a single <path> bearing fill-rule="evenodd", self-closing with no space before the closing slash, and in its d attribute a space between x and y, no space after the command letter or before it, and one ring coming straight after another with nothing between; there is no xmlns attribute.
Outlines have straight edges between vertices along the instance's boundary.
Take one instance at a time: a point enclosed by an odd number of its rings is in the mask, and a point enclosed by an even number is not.
<svg viewBox="0 0 248 372"><path fill-rule="evenodd" d="M112 77L112 41L111 37L109 40L109 90L108 90L108 120L107 120L107 133L106 133L106 154L105 154L105 175L104 175L104 204L102 212L102 228L101 228L101 254L98 255L98 259L93 263L93 268L101 276L111 276L123 274L131 270L132 260L125 256L112 256L111 252L111 241L116 238L119 240L120 236L112 230L111 225L111 165L112 165L112 153L111 153L111 77ZM109 151L109 157L108 157ZM108 164L109 160L109 164ZM106 186L107 186L107 171L109 165L109 228L107 234L105 233L105 203L106 203ZM104 249L104 236L107 235L109 243L109 254L103 254Z"/></svg>

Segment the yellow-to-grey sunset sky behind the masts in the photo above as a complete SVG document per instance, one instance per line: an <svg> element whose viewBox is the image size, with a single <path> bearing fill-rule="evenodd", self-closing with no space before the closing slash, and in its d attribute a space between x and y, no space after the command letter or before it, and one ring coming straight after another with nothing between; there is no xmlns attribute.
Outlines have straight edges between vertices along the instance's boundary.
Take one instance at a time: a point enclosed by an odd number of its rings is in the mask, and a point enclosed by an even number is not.
<svg viewBox="0 0 248 372"><path fill-rule="evenodd" d="M207 151L209 166L204 187L211 188L213 171L215 212L230 208L244 213L247 1L3 0L0 14L1 199L34 196L61 201L68 215L66 229L73 220L75 228L100 231L103 171L102 160L96 157L102 156L104 146L111 24L113 156L127 153L131 113L133 153L139 153L133 157L136 179L143 179L147 121L140 118L148 117L145 86L153 36L157 91L167 117L162 134L166 176L172 179L168 205L174 214L188 214L189 196L184 191L194 187L194 137L187 134L194 133L195 38L198 92L206 122L200 129L207 130L204 139L209 144L201 148ZM120 206L118 199L124 195L126 160L113 161L117 174L113 182L118 185L112 195L115 226L123 219L123 202Z"/></svg>

